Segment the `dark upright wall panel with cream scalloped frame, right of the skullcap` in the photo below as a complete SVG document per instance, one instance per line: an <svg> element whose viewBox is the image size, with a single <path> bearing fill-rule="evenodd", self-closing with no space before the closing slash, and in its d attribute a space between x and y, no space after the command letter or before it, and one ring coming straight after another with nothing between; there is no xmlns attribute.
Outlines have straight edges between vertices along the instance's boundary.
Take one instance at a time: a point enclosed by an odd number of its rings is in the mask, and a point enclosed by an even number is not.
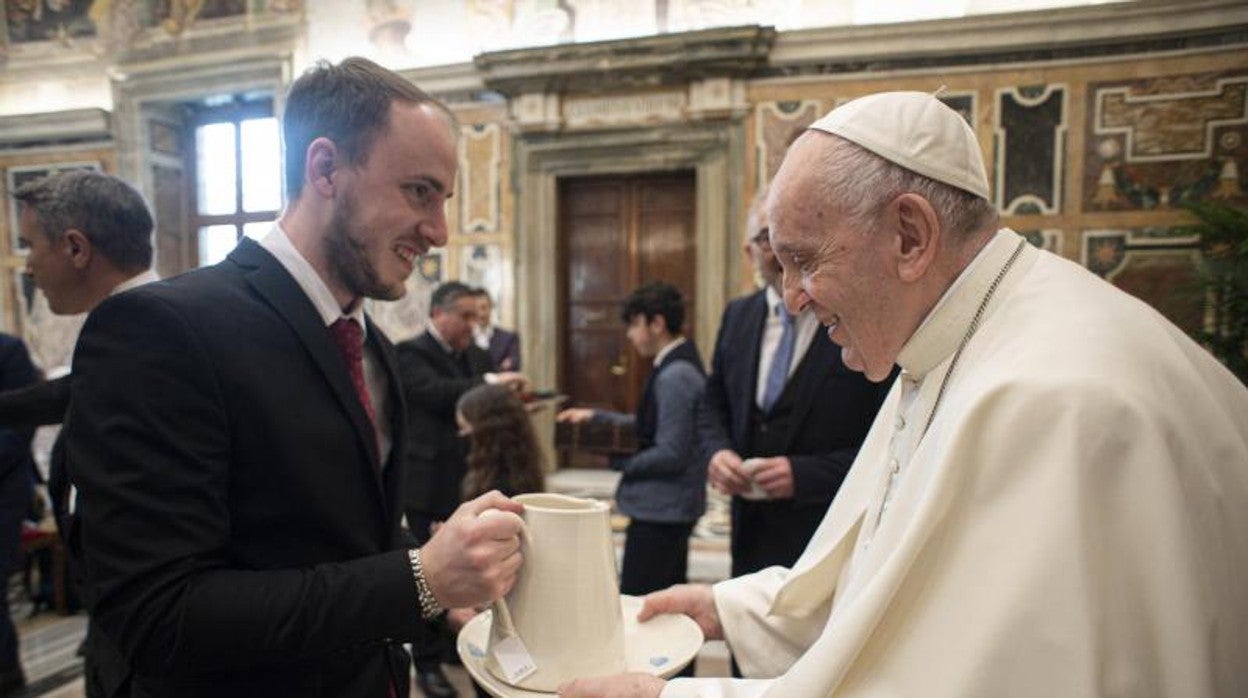
<svg viewBox="0 0 1248 698"><path fill-rule="evenodd" d="M1066 92L1063 85L997 90L993 190L1002 214L1061 212Z"/></svg>

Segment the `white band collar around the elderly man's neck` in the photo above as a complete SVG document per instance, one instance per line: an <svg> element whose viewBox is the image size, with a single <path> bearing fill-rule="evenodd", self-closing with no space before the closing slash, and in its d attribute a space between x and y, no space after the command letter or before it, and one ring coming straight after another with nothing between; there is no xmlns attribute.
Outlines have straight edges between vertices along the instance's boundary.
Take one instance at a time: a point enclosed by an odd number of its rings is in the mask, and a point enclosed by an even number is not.
<svg viewBox="0 0 1248 698"><path fill-rule="evenodd" d="M897 365L902 371L922 378L953 353L1018 240L1012 230L1001 229L980 250L901 347Z"/></svg>

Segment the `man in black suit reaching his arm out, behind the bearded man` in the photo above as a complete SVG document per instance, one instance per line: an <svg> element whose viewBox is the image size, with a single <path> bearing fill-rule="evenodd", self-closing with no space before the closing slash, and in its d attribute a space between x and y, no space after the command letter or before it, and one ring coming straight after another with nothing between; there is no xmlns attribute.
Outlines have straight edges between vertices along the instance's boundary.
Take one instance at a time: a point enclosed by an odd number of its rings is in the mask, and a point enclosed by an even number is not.
<svg viewBox="0 0 1248 698"><path fill-rule="evenodd" d="M495 373L484 350L473 343L479 321L474 290L448 281L429 298L426 331L396 347L407 412L408 474L404 511L417 543L424 543L434 523L446 521L462 499L468 442L459 436L456 402L470 388L500 382L524 390L528 381L515 372ZM449 651L442 619L428 623L412 642L416 679L428 696L454 696L441 662Z"/></svg>

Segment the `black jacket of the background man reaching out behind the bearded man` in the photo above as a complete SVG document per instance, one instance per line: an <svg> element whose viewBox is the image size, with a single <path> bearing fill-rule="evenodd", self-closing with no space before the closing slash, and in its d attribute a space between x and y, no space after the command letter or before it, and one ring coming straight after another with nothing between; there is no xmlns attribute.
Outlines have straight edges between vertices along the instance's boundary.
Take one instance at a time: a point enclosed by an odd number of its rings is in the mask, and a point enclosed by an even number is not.
<svg viewBox="0 0 1248 698"><path fill-rule="evenodd" d="M458 363L428 332L396 350L408 403L406 507L423 518L446 519L459 506L468 455L456 425L456 402L485 382L494 363L475 345L466 350L466 365Z"/></svg>

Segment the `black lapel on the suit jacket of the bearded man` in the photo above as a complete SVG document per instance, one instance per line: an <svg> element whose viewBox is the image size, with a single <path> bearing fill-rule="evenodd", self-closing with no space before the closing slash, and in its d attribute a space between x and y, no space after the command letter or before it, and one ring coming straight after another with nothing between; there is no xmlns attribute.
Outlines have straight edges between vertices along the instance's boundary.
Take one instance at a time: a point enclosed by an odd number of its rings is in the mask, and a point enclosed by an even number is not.
<svg viewBox="0 0 1248 698"><path fill-rule="evenodd" d="M334 346L333 338L322 322L321 315L312 306L312 301L308 300L307 295L303 293L303 290L300 288L300 285L296 283L286 268L272 255L251 240L245 238L240 242L238 247L230 253L230 258L235 260L240 266L252 270L247 273L247 282L291 326L291 330L295 331L300 341L303 342L305 348L312 356L312 361L321 370L321 373L324 375L324 380L329 383L339 406L347 412L352 426L356 428L356 435L367 453L368 466L373 471L373 477L379 489L382 483L377 473L377 463L379 461L377 435L373 432L373 425L368 420L368 413L364 412L363 405L359 403L359 396L356 395L356 387L351 383L351 376L347 373L346 365L343 365L342 355L338 353L338 347Z"/></svg>

